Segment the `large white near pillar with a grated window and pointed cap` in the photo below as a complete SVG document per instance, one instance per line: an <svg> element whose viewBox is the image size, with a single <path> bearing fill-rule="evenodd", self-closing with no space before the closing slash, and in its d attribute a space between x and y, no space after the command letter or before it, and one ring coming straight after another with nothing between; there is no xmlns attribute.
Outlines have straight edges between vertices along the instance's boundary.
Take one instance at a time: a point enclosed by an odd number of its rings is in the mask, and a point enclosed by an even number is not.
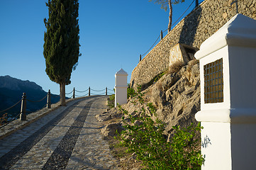
<svg viewBox="0 0 256 170"><path fill-rule="evenodd" d="M202 169L256 169L256 21L231 18L202 43Z"/></svg>

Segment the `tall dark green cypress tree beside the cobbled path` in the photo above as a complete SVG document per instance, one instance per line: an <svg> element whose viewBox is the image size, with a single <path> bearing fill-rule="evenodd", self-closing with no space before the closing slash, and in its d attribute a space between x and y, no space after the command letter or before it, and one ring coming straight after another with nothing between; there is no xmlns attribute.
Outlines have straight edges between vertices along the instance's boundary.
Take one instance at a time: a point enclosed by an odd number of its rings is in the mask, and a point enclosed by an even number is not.
<svg viewBox="0 0 256 170"><path fill-rule="evenodd" d="M79 53L78 0L48 0L49 18L45 18L43 55L50 80L60 84L60 104L65 106L65 85L71 83Z"/></svg>

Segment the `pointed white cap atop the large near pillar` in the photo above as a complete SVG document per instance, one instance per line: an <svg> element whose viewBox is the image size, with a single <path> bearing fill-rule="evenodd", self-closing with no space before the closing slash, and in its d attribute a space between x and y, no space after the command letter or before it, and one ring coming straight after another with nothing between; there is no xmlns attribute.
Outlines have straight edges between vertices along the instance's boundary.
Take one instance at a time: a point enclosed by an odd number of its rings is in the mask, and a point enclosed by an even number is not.
<svg viewBox="0 0 256 170"><path fill-rule="evenodd" d="M256 47L256 21L240 13L236 14L201 44L195 57L200 60L226 45Z"/></svg>

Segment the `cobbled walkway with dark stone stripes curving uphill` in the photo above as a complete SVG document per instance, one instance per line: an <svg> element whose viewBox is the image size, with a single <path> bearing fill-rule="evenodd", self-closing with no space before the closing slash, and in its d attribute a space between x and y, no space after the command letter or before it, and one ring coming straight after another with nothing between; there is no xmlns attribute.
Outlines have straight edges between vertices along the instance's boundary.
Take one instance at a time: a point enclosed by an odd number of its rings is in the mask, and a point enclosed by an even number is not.
<svg viewBox="0 0 256 170"><path fill-rule="evenodd" d="M71 101L0 140L0 169L119 169L95 115L106 96Z"/></svg>

